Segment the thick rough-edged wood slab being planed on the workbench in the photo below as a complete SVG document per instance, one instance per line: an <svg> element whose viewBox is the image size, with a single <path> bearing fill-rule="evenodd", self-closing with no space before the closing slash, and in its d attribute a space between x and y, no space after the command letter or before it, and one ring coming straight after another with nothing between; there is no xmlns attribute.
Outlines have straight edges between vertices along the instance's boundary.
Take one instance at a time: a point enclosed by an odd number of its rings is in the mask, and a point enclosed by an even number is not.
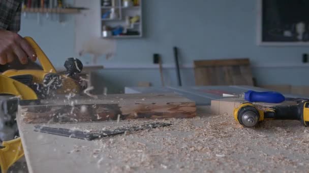
<svg viewBox="0 0 309 173"><path fill-rule="evenodd" d="M98 99L77 97L19 106L25 123L58 123L124 119L193 118L195 102L176 94L119 94Z"/></svg>

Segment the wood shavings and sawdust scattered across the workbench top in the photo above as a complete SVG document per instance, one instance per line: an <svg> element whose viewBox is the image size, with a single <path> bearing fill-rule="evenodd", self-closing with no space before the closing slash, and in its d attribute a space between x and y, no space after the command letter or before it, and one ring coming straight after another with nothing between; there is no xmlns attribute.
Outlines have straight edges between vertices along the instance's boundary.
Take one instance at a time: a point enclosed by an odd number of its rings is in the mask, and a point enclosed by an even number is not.
<svg viewBox="0 0 309 173"><path fill-rule="evenodd" d="M159 121L173 125L97 140L95 149L72 146L68 154L86 150L89 163L106 172L309 170L309 128L299 121L269 120L244 128L229 115L199 114L191 119L124 122L135 126Z"/></svg>

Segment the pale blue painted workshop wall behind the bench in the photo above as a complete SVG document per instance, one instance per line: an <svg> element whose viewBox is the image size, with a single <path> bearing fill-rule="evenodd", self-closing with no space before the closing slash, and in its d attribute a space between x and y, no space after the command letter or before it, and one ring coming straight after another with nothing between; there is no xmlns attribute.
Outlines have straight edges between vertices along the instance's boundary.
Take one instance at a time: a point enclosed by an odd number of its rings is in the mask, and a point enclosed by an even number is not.
<svg viewBox="0 0 309 173"><path fill-rule="evenodd" d="M89 1L95 2L97 0ZM110 92L136 86L138 81L160 86L159 69L149 68L152 54L161 54L164 65L172 66L174 46L179 48L180 63L186 66L200 59L248 57L258 84L309 85L308 80L302 79L306 78L309 66L301 64L301 55L309 52L307 47L257 46L256 8L256 1L246 0L146 0L143 4L144 37L119 39L116 55L109 60L99 59L103 65L133 68L106 66L107 69L96 74L102 78L97 80L96 86L100 88L106 84ZM66 18L64 24L59 24L42 17L41 25L37 24L36 15L22 18L20 33L34 37L57 67L63 66L67 57L78 58L74 48L74 16ZM89 59L89 55L81 57L84 63ZM273 68L275 64L280 67ZM145 68L137 69L143 65ZM166 68L164 77L167 85L177 84L175 69ZM181 77L183 85L194 85L192 68L181 69Z"/></svg>

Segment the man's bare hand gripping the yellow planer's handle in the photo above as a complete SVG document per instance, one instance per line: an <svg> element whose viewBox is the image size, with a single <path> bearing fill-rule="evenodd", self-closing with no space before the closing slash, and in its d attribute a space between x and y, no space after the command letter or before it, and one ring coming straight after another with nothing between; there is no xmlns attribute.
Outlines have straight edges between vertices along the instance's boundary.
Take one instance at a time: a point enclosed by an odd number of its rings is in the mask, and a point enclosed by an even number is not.
<svg viewBox="0 0 309 173"><path fill-rule="evenodd" d="M28 59L36 61L37 55L28 41L19 34L0 30L0 64L5 65L15 58L18 58L21 64L26 64Z"/></svg>

